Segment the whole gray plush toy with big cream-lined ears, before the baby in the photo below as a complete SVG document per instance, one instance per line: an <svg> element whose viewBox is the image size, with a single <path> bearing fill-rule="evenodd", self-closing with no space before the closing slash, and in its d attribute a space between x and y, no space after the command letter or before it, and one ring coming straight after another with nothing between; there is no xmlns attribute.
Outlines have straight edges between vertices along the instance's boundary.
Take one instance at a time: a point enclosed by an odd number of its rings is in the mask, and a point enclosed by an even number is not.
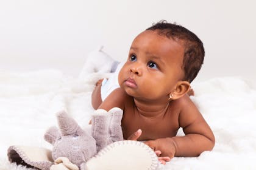
<svg viewBox="0 0 256 170"><path fill-rule="evenodd" d="M57 114L59 129L44 134L52 151L34 146L10 146L11 163L41 170L162 169L155 152L140 141L123 140L123 110L98 109L91 118L91 133L83 131L65 111Z"/></svg>

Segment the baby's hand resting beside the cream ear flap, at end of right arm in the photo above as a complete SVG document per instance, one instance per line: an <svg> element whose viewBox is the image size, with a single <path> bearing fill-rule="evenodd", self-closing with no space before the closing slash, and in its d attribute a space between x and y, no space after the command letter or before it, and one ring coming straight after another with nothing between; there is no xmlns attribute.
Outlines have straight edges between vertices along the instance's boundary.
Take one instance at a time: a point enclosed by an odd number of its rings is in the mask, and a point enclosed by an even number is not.
<svg viewBox="0 0 256 170"><path fill-rule="evenodd" d="M170 160L174 157L176 147L172 138L158 138L157 140L148 140L144 144L147 144L154 151L161 151L159 156L169 157Z"/></svg>

